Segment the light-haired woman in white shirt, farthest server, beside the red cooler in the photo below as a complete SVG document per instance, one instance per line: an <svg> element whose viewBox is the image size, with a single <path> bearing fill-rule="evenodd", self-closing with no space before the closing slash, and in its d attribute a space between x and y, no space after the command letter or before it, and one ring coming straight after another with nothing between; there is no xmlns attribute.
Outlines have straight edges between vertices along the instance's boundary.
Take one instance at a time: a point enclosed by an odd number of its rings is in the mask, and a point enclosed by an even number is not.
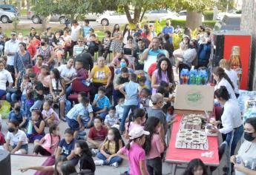
<svg viewBox="0 0 256 175"><path fill-rule="evenodd" d="M238 98L239 91L238 91L238 77L237 72L230 68L230 63L226 59L221 59L219 62L219 66L225 70L225 73L229 76L229 79L232 81L234 85L234 94Z"/></svg>

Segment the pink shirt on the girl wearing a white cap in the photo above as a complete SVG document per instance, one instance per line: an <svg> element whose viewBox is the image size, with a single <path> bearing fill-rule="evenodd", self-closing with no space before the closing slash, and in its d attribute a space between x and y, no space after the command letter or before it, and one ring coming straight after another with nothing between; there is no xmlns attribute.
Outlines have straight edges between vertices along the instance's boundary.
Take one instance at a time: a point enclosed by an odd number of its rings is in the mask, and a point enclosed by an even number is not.
<svg viewBox="0 0 256 175"><path fill-rule="evenodd" d="M130 165L129 174L140 175L141 174L140 161L145 162L145 151L143 150L143 148L140 145L137 145L136 143L131 142L130 150L123 147L121 148L121 152L125 153L128 156L129 165Z"/></svg>

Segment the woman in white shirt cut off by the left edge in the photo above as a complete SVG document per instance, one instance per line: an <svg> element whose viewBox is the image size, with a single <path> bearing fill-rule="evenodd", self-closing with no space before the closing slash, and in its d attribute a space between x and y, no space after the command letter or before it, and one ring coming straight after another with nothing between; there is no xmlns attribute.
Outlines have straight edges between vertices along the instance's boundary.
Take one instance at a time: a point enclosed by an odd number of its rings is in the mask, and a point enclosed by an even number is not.
<svg viewBox="0 0 256 175"><path fill-rule="evenodd" d="M5 62L0 61L0 99L6 94L6 83L13 87L13 78L8 70L4 69Z"/></svg>

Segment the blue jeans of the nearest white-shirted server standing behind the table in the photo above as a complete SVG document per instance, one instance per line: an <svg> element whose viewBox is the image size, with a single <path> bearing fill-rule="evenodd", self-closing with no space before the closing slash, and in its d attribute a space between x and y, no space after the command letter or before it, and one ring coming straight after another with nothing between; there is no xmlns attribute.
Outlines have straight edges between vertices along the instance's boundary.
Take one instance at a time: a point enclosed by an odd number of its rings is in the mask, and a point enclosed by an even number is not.
<svg viewBox="0 0 256 175"><path fill-rule="evenodd" d="M229 170L232 170L232 164L230 163L229 158L234 155L235 148L237 147L237 142L241 139L243 136L243 125L241 125L238 128L234 128L234 130L230 133L226 134L226 140L227 144L229 145L228 151L226 151L227 156L227 165L229 166L228 172L226 174L229 174Z"/></svg>

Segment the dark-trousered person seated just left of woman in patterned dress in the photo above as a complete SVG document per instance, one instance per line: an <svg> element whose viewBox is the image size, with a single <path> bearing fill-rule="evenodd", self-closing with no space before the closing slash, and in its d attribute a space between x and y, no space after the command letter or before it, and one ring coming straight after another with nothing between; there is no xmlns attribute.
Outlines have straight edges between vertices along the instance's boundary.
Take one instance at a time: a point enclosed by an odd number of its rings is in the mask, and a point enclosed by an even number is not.
<svg viewBox="0 0 256 175"><path fill-rule="evenodd" d="M106 30L105 37L102 39L102 43L99 45L99 56L103 56L105 59L107 59L110 47L111 47L111 32Z"/></svg>

